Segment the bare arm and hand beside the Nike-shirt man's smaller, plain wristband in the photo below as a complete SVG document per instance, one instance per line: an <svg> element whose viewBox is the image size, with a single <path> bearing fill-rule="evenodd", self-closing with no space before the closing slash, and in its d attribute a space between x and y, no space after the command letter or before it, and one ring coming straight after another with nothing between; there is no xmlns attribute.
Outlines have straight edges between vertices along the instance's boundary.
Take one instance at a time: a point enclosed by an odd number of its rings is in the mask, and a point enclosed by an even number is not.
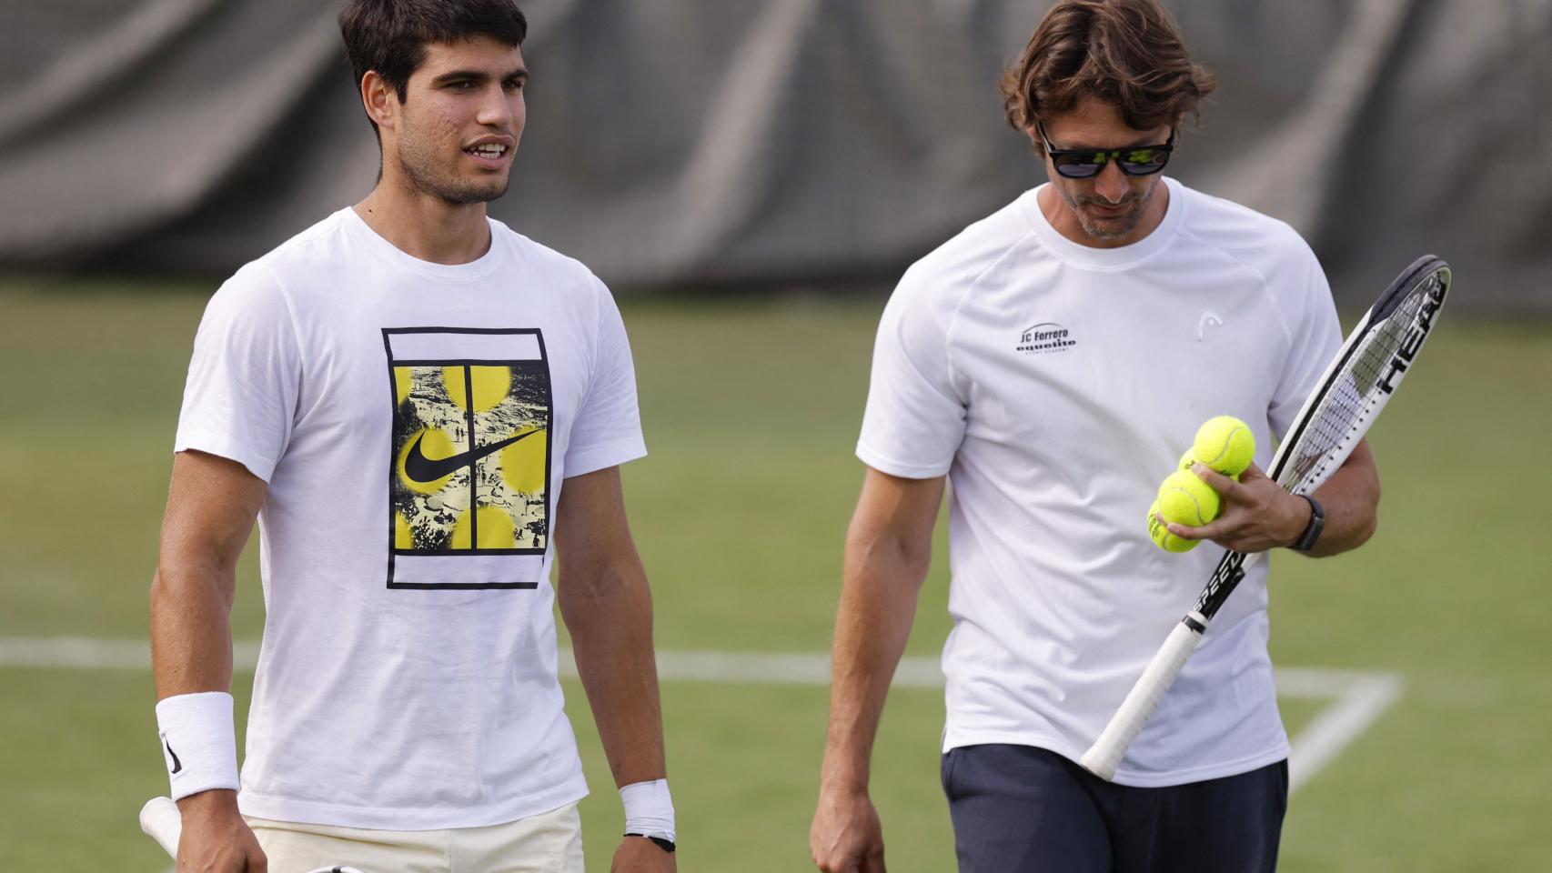
<svg viewBox="0 0 1552 873"><path fill-rule="evenodd" d="M556 599L616 786L667 778L652 651L652 591L630 537L619 468L566 479L556 519ZM672 870L674 856L624 840L613 870Z"/></svg>

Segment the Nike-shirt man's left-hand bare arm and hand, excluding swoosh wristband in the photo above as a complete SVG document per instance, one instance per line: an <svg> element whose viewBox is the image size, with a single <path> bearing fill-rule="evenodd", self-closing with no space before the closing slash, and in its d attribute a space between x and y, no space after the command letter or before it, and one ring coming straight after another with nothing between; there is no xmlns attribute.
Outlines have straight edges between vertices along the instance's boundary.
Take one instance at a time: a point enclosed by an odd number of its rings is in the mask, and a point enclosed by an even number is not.
<svg viewBox="0 0 1552 873"><path fill-rule="evenodd" d="M151 664L157 699L231 690L231 602L237 558L253 532L265 484L225 457L174 457L151 583ZM178 800L178 870L262 871L264 853L237 814L234 791Z"/></svg>

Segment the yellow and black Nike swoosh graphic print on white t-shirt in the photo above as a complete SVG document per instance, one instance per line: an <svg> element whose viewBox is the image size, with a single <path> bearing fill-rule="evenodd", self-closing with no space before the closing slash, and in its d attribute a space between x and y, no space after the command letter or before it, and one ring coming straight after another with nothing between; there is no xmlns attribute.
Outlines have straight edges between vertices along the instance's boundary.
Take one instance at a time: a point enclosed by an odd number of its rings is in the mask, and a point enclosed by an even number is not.
<svg viewBox="0 0 1552 873"><path fill-rule="evenodd" d="M385 330L394 397L393 555L543 554L551 395L537 332L390 333L414 330ZM411 357L452 352L466 333L483 355ZM526 335L529 343L503 343L503 333ZM490 352L528 354L528 347L539 357L487 360Z"/></svg>

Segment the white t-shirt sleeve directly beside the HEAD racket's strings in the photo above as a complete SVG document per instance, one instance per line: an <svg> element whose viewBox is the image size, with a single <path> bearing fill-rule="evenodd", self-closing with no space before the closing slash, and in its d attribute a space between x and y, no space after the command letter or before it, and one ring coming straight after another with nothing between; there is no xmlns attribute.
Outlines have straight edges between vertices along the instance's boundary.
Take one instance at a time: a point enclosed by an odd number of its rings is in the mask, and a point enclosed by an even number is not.
<svg viewBox="0 0 1552 873"><path fill-rule="evenodd" d="M1332 287L1325 282L1325 271L1315 253L1302 240L1288 273L1291 288L1285 299L1290 305L1284 310L1290 333L1288 361L1266 411L1266 420L1279 437L1288 433L1294 416L1342 347L1342 326L1336 318Z"/></svg>

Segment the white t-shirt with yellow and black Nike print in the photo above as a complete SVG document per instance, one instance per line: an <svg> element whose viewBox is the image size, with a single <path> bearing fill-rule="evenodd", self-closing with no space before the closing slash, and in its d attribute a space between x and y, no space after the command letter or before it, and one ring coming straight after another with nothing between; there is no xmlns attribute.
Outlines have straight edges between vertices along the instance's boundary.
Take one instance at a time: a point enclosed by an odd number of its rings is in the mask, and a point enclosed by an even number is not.
<svg viewBox="0 0 1552 873"><path fill-rule="evenodd" d="M341 209L205 310L175 450L268 482L245 814L458 828L587 794L551 538L566 476L646 454L635 372L585 267L490 236L438 265Z"/></svg>

